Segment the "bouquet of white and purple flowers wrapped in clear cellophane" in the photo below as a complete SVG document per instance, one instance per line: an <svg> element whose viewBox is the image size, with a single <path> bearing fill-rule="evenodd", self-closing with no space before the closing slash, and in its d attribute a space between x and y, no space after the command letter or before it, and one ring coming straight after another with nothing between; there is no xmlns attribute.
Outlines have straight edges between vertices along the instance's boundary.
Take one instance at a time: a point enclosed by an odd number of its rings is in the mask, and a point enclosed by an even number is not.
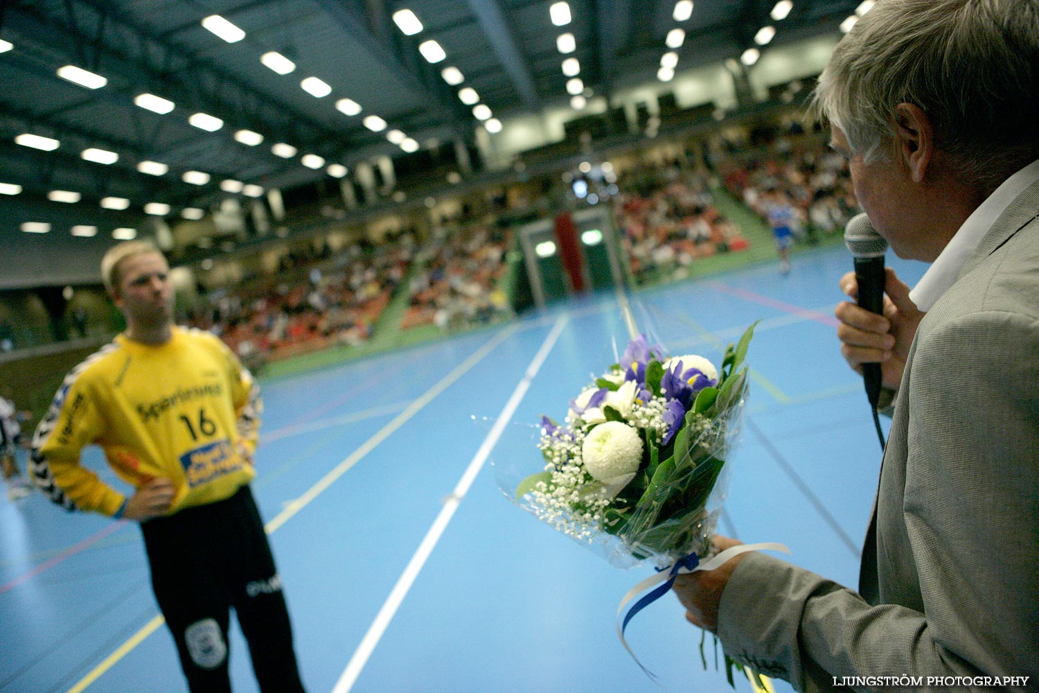
<svg viewBox="0 0 1039 693"><path fill-rule="evenodd" d="M541 420L544 470L517 504L565 534L602 544L628 566L703 558L721 513L729 450L747 395L751 325L720 368L668 356L638 336L620 362L570 401L563 424Z"/></svg>

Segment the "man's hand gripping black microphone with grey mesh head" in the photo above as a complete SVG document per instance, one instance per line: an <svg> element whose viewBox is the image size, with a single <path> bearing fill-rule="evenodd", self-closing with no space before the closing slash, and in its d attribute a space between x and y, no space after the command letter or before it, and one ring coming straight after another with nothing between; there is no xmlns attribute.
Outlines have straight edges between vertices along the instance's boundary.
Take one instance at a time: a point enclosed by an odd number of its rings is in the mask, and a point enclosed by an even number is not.
<svg viewBox="0 0 1039 693"><path fill-rule="evenodd" d="M855 270L841 278L841 290L856 303L844 302L834 314L841 320L837 338L845 361L868 381L868 397L880 385L897 391L909 346L924 314L909 299L909 287L895 270L884 268L886 241L859 214L845 231L845 242L855 257ZM886 296L884 295L886 293Z"/></svg>

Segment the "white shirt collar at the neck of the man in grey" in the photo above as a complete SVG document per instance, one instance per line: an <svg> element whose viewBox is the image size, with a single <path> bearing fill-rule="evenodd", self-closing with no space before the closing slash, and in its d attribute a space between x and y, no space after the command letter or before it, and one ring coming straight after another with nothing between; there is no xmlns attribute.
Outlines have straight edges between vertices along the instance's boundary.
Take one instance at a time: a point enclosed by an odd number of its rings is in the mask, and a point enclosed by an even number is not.
<svg viewBox="0 0 1039 693"><path fill-rule="evenodd" d="M978 206L978 209L967 217L967 220L945 245L941 255L916 283L913 290L909 292L909 299L916 304L917 309L927 313L931 306L938 302L941 294L945 293L945 290L953 286L959 277L963 264L981 243L981 239L985 237L988 230L991 229L992 221L1010 207L1017 195L1024 192L1025 188L1036 181L1039 181L1039 161L1033 161L1008 178L1003 182L1003 185L995 189L995 192Z"/></svg>

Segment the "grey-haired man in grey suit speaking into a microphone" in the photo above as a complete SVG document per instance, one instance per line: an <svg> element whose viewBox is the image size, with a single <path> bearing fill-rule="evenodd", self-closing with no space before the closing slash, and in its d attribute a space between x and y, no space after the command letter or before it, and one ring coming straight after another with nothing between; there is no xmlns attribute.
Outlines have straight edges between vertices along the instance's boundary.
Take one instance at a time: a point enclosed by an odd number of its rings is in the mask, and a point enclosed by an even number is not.
<svg viewBox="0 0 1039 693"><path fill-rule="evenodd" d="M888 272L883 317L837 309L897 391L859 589L754 553L674 589L798 690L1039 690L1039 0L878 0L816 107L878 232L933 263L912 294Z"/></svg>

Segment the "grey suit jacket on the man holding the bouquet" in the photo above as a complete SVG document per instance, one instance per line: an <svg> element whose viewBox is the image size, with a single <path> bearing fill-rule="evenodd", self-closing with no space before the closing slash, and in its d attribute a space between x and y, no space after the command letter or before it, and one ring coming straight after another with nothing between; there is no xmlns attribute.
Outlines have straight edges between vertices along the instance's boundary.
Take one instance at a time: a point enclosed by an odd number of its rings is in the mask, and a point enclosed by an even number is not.
<svg viewBox="0 0 1039 693"><path fill-rule="evenodd" d="M924 676L913 691L927 676L1031 676L1011 688L1039 690L1039 183L920 325L859 591L751 554L718 634L729 656L802 691L871 675ZM940 690L986 688L961 683Z"/></svg>

